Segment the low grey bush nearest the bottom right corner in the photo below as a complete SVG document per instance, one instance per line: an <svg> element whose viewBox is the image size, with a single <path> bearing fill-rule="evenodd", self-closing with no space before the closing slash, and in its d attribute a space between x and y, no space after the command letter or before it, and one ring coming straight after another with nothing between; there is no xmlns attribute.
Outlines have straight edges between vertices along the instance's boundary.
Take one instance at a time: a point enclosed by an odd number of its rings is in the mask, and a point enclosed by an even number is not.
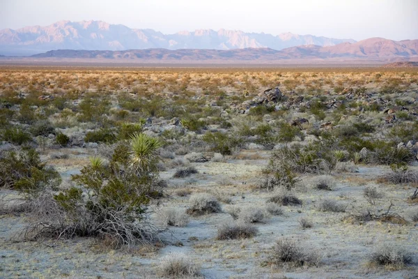
<svg viewBox="0 0 418 279"><path fill-rule="evenodd" d="M412 262L412 256L397 244L384 243L371 252L369 260L373 264L382 265L389 269L400 269Z"/></svg>

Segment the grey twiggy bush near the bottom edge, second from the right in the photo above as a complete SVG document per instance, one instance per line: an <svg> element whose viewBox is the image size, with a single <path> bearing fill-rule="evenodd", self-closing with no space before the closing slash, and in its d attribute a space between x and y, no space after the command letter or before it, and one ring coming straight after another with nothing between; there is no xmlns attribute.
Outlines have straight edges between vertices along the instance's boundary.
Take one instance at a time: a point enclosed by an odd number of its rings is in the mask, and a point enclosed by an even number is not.
<svg viewBox="0 0 418 279"><path fill-rule="evenodd" d="M293 264L295 266L309 266L318 264L318 257L307 252L306 246L298 245L292 239L279 239L272 248L272 264Z"/></svg>

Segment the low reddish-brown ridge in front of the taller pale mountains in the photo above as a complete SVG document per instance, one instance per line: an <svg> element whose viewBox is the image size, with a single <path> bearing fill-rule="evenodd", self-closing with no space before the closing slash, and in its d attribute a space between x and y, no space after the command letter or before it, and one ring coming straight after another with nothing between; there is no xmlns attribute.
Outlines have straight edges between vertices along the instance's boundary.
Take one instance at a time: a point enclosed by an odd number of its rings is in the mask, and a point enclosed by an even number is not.
<svg viewBox="0 0 418 279"><path fill-rule="evenodd" d="M341 43L330 47L304 45L284 50L245 48L235 50L52 50L33 58L130 59L139 61L279 61L289 59L341 61L398 61L418 57L418 40L396 42L371 38L358 43Z"/></svg>

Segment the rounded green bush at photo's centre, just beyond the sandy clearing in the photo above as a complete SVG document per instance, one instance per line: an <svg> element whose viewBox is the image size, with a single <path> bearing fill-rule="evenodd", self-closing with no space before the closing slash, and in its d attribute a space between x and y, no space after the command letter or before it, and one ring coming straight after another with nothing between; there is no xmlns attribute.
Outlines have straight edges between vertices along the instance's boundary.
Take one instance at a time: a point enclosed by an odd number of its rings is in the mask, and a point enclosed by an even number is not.
<svg viewBox="0 0 418 279"><path fill-rule="evenodd" d="M203 135L203 141L210 144L212 151L222 155L231 155L233 150L242 144L240 137L221 132L206 133Z"/></svg>

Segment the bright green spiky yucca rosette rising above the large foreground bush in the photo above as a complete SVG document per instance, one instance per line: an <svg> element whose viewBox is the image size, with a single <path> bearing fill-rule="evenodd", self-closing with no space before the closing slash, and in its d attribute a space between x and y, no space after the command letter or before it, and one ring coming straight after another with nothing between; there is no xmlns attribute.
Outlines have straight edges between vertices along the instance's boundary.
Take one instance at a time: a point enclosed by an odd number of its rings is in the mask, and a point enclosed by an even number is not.
<svg viewBox="0 0 418 279"><path fill-rule="evenodd" d="M155 151L163 144L160 140L142 133L131 136L131 164L136 172L149 172L155 167L157 154Z"/></svg>

